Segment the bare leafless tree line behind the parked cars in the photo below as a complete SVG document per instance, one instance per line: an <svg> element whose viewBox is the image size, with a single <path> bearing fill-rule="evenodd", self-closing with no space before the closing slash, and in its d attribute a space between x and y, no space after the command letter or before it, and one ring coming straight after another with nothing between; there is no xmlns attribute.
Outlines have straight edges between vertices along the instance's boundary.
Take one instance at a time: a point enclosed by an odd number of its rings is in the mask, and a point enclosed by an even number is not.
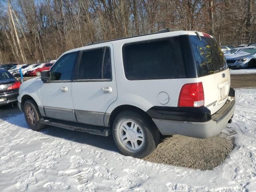
<svg viewBox="0 0 256 192"><path fill-rule="evenodd" d="M2 0L0 64L163 28L206 32L220 45L256 42L256 0Z"/></svg>

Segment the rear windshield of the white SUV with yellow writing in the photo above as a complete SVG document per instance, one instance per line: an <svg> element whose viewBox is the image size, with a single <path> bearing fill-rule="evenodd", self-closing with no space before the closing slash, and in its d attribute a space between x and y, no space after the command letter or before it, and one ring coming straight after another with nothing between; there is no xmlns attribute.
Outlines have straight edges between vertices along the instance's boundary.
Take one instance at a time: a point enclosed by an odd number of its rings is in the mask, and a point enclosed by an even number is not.
<svg viewBox="0 0 256 192"><path fill-rule="evenodd" d="M227 69L224 54L214 38L204 36L201 36L201 38L202 40L199 40L196 35L190 35L198 76L205 76Z"/></svg>

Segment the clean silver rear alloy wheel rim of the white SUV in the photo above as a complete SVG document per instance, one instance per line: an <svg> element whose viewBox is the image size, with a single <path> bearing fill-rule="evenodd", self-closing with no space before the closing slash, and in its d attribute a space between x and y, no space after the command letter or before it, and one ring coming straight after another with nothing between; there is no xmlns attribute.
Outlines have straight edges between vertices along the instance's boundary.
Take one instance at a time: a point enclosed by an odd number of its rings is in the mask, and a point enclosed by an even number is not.
<svg viewBox="0 0 256 192"><path fill-rule="evenodd" d="M126 120L119 127L119 137L128 149L138 150L144 143L144 134L140 126L132 120Z"/></svg>

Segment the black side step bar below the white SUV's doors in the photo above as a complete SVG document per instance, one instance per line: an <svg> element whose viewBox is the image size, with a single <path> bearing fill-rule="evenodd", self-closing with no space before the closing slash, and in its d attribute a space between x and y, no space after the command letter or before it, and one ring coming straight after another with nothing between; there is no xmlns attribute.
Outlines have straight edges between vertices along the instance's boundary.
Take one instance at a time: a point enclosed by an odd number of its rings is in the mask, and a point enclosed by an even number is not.
<svg viewBox="0 0 256 192"><path fill-rule="evenodd" d="M80 124L76 122L67 122L51 118L41 118L40 123L72 131L81 131L100 136L109 136L112 133L112 130L109 127L100 127L94 125Z"/></svg>

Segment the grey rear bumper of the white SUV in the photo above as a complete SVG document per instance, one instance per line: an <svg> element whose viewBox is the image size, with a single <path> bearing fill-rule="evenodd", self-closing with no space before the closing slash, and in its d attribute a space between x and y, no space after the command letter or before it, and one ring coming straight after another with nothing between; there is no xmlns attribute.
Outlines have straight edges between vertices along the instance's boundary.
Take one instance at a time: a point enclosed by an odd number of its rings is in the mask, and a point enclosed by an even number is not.
<svg viewBox="0 0 256 192"><path fill-rule="evenodd" d="M230 88L230 92L234 90ZM233 94L231 96L233 96ZM233 97L234 98L234 97ZM195 138L209 138L219 134L231 120L235 111L235 99L226 101L224 106L211 116L206 122L180 121L170 119L152 118L163 135L180 134ZM190 117L188 117L189 119Z"/></svg>

